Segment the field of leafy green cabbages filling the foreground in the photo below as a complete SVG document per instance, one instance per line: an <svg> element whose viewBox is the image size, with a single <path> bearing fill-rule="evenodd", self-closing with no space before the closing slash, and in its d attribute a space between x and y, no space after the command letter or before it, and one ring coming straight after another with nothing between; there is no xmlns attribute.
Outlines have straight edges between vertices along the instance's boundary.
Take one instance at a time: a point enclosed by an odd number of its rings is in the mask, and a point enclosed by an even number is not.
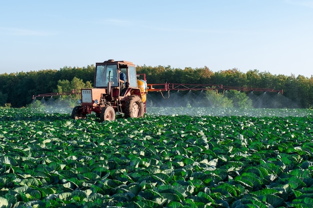
<svg viewBox="0 0 313 208"><path fill-rule="evenodd" d="M0 108L0 208L311 208L313 111Z"/></svg>

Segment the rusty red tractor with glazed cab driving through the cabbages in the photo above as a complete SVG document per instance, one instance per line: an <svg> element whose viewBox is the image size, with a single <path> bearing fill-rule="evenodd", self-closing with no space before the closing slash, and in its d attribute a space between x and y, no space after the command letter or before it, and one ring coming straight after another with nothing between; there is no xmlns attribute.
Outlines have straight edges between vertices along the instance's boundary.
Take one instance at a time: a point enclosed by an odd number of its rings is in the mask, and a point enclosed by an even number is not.
<svg viewBox="0 0 313 208"><path fill-rule="evenodd" d="M124 74L124 80L120 79L119 73ZM116 113L123 114L125 118L143 117L147 84L137 78L132 62L109 59L96 63L93 86L80 90L80 105L73 108L73 119L85 119L91 112L100 121L112 121Z"/></svg>

